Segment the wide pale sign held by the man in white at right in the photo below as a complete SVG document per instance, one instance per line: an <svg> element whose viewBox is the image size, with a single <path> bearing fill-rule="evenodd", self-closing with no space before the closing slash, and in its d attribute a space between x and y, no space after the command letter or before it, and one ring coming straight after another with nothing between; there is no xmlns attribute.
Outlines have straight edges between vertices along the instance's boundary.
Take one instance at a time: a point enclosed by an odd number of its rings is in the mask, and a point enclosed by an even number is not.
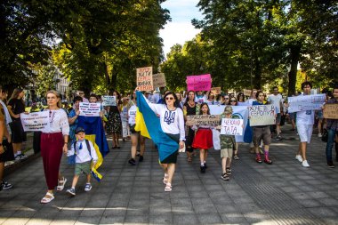
<svg viewBox="0 0 338 225"><path fill-rule="evenodd" d="M321 109L326 100L326 94L312 94L312 95L299 95L296 97L289 97L289 113L300 112L306 110Z"/></svg>

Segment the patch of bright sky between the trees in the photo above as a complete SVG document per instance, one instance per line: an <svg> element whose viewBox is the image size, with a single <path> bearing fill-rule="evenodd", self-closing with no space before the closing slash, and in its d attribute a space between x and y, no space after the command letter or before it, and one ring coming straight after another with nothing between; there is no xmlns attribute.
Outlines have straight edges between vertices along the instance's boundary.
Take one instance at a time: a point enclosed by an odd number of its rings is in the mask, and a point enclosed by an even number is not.
<svg viewBox="0 0 338 225"><path fill-rule="evenodd" d="M192 19L203 19L202 13L196 7L197 4L198 0L166 0L162 4L162 8L170 11L172 18L172 21L159 31L164 40L165 56L174 44L184 44L199 33L200 30L191 24Z"/></svg>

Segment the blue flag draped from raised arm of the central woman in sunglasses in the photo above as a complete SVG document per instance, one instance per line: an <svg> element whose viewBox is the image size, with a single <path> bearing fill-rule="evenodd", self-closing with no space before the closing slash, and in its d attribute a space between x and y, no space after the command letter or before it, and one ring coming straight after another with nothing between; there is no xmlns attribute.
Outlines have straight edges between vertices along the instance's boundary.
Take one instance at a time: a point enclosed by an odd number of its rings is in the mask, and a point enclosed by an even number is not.
<svg viewBox="0 0 338 225"><path fill-rule="evenodd" d="M159 118L149 107L141 92L136 92L136 100L149 136L157 145L159 160L163 162L166 157L169 157L179 149L179 145L162 131Z"/></svg>

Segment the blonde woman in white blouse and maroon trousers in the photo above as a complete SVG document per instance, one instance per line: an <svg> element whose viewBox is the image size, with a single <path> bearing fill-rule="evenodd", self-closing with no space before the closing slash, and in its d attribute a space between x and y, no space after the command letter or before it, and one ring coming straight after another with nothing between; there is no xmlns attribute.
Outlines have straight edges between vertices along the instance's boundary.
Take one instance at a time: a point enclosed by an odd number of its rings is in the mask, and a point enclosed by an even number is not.
<svg viewBox="0 0 338 225"><path fill-rule="evenodd" d="M61 108L60 95L58 92L46 93L49 110L50 131L41 134L41 156L44 162L44 177L48 191L41 199L41 203L49 203L54 199L53 191L64 189L67 179L60 173L60 161L62 151L67 153L69 125L66 112Z"/></svg>

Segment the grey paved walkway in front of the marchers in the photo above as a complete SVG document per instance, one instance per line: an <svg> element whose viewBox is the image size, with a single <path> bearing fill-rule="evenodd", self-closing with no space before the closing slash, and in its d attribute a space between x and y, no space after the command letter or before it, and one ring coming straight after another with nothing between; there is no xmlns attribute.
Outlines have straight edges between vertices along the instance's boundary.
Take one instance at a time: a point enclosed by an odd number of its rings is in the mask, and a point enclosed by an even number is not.
<svg viewBox="0 0 338 225"><path fill-rule="evenodd" d="M86 193L81 176L76 197L64 190L48 205L40 204L46 187L38 158L6 177L14 188L0 191L0 224L338 224L338 167L326 166L326 143L312 136L310 168L303 168L294 159L295 133L282 134L287 140L273 141L270 148L273 165L255 163L248 145L241 144L230 181L221 180L218 151L210 150L204 174L198 157L189 164L181 154L171 193L164 192L151 141L135 166L127 163L130 141L121 142L122 149L112 149L99 170L101 183L93 181ZM66 189L73 170L63 157Z"/></svg>

